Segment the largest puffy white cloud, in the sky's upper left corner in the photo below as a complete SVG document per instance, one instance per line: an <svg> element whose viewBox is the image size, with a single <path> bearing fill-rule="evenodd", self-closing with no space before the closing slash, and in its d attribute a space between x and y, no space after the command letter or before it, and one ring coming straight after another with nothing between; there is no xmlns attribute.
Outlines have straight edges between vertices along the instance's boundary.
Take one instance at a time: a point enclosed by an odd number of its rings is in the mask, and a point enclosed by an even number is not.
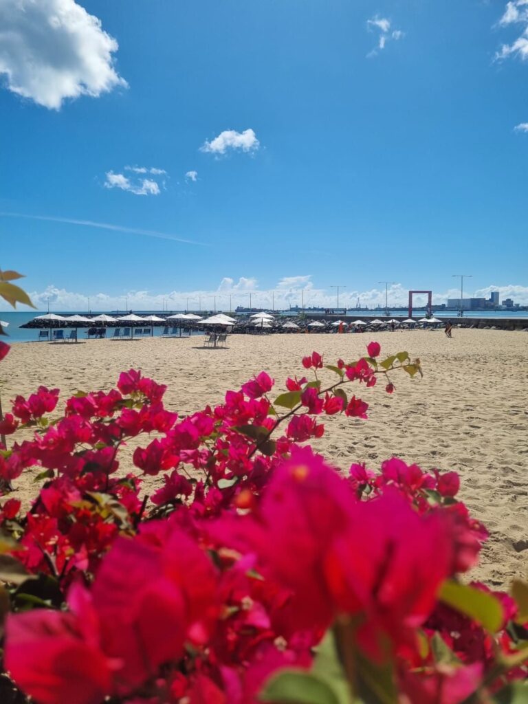
<svg viewBox="0 0 528 704"><path fill-rule="evenodd" d="M11 92L45 108L127 86L116 51L101 20L75 0L0 0L0 75Z"/></svg>

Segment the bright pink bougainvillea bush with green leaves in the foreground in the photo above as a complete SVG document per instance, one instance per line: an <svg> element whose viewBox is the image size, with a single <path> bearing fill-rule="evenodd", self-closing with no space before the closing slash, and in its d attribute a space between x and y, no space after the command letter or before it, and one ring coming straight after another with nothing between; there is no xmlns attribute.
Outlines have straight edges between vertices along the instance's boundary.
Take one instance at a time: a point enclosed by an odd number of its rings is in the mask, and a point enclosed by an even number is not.
<svg viewBox="0 0 528 704"><path fill-rule="evenodd" d="M0 422L1 703L527 701L528 585L465 577L487 533L458 475L398 458L340 472L314 449L323 419L367 417L358 394L421 375L380 353L314 352L281 393L262 372L187 417L136 370L65 402L16 396ZM30 467L23 513L8 493ZM163 478L151 496L145 475Z"/></svg>

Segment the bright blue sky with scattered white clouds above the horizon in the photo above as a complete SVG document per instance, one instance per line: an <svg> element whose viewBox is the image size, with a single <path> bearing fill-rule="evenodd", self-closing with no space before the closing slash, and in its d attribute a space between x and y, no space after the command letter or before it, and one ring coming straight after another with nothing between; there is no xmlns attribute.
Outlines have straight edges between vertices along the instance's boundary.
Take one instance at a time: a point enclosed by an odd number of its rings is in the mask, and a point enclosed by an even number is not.
<svg viewBox="0 0 528 704"><path fill-rule="evenodd" d="M3 6L0 266L39 307L528 303L524 0Z"/></svg>

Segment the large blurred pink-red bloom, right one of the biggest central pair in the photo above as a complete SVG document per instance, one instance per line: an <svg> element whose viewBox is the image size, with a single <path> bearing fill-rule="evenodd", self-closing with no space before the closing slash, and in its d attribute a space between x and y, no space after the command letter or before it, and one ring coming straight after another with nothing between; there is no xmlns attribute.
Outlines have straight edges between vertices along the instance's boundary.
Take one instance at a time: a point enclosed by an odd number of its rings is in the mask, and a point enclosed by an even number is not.
<svg viewBox="0 0 528 704"><path fill-rule="evenodd" d="M415 631L432 612L452 561L446 517L422 516L389 490L356 504L346 530L329 543L324 572L337 610L365 615L358 637L377 658L387 636L394 648L415 647Z"/></svg>

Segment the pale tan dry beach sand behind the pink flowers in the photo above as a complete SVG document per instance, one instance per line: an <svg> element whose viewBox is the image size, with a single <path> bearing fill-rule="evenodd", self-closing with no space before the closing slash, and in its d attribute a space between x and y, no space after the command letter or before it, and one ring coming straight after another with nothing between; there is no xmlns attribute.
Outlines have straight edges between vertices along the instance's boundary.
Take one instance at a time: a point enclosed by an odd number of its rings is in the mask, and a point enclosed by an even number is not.
<svg viewBox="0 0 528 704"><path fill-rule="evenodd" d="M288 375L303 373L306 353L324 353L327 363L339 357L352 361L365 353L370 339L387 354L405 350L420 357L424 378L394 375L393 396L385 394L384 384L355 385L371 404L369 420L327 418L326 434L315 447L344 470L363 461L376 468L392 455L427 470L456 470L461 498L491 532L475 577L497 586L526 574L528 335L523 332L455 329L452 339L442 331L235 335L227 349L199 348L201 337L17 344L0 370L4 410L8 399L39 384L58 386L64 394L110 389L120 370L135 367L168 384L166 405L186 414L222 401L227 389L239 388L261 370L276 379L278 394ZM25 498L36 493L31 476L16 485Z"/></svg>

